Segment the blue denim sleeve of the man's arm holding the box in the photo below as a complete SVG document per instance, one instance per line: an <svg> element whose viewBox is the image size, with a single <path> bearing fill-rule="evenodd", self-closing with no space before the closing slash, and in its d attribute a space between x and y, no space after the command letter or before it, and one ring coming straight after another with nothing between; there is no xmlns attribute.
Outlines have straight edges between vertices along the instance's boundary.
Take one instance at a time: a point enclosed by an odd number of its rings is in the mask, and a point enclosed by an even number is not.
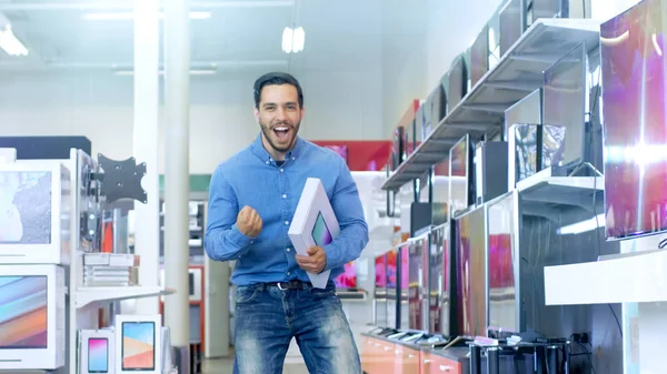
<svg viewBox="0 0 667 374"><path fill-rule="evenodd" d="M357 184L345 164L339 163L339 175L331 196L331 206L338 219L340 234L323 246L327 254L327 267L331 270L357 260L368 244L368 225L364 218L364 206Z"/></svg>

